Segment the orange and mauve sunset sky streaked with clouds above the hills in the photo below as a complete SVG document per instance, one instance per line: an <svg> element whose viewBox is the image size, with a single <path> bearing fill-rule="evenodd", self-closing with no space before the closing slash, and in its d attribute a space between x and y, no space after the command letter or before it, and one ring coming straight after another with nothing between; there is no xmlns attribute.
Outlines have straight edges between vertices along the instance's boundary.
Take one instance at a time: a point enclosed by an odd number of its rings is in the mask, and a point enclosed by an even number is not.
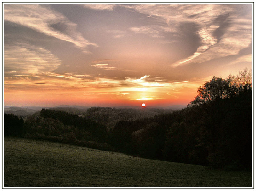
<svg viewBox="0 0 256 191"><path fill-rule="evenodd" d="M4 105L187 105L252 68L251 4L4 3Z"/></svg>

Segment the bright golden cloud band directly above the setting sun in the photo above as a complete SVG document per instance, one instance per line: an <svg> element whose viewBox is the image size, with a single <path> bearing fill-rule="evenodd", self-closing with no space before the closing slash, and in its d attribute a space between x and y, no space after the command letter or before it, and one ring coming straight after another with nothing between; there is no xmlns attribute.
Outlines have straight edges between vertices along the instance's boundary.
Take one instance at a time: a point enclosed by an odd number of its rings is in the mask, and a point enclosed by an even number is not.
<svg viewBox="0 0 256 191"><path fill-rule="evenodd" d="M97 88L98 91L108 90L108 94L116 92L123 92L121 95L125 95L130 100L157 100L166 99L166 96L172 97L172 99L179 99L181 92L184 93L184 88L187 91L191 91L198 87L198 84L190 81L172 81L165 82L162 78L150 77L145 75L140 78L125 77L124 80L109 79L97 77L93 81L88 82L88 86ZM166 93L163 93L166 92ZM172 92L171 95L167 94ZM119 94L119 93L118 93Z"/></svg>

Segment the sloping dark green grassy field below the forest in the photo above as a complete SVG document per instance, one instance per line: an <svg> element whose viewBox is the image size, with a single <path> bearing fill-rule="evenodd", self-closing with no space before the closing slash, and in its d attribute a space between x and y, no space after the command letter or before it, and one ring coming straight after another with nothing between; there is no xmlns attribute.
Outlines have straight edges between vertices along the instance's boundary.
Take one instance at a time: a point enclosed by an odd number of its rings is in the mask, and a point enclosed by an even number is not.
<svg viewBox="0 0 256 191"><path fill-rule="evenodd" d="M251 172L148 160L116 152L5 137L4 186L251 186Z"/></svg>

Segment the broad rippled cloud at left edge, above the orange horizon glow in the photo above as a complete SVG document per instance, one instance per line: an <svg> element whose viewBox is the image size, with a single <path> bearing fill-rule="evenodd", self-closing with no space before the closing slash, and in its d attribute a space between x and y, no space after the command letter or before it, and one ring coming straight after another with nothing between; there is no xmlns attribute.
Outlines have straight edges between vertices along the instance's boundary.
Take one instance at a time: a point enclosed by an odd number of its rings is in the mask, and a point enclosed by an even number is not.
<svg viewBox="0 0 256 191"><path fill-rule="evenodd" d="M6 44L4 56L6 92L83 87L80 83L91 77L88 74L54 72L62 62L49 50L28 43Z"/></svg>

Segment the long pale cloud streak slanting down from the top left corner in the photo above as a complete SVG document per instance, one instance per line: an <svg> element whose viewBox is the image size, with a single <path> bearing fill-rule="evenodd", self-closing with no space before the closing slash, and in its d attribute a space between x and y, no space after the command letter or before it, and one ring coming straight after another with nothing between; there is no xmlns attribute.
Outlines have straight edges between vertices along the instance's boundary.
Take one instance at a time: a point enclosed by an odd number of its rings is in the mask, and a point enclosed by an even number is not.
<svg viewBox="0 0 256 191"><path fill-rule="evenodd" d="M71 42L84 53L88 53L88 45L97 46L84 39L83 35L77 31L75 23L69 21L61 13L43 5L5 5L4 19Z"/></svg>

